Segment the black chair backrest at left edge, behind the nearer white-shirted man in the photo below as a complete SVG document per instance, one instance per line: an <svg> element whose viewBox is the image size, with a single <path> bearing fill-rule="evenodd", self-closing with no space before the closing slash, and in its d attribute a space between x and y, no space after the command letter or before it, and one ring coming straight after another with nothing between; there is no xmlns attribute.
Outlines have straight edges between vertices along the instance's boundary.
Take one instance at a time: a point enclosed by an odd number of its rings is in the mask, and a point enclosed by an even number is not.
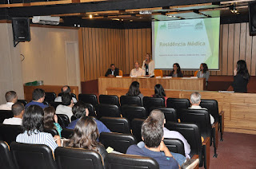
<svg viewBox="0 0 256 169"><path fill-rule="evenodd" d="M0 124L0 140L6 141L8 144L15 141L18 134L22 132L22 126Z"/></svg>

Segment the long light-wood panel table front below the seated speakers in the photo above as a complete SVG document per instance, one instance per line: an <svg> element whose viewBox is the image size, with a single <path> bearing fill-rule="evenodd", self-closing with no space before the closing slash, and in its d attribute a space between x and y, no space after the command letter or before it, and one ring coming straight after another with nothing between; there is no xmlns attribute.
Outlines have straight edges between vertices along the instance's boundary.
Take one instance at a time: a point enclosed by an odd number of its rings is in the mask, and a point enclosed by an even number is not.
<svg viewBox="0 0 256 169"><path fill-rule="evenodd" d="M106 94L106 88L129 88L133 81L138 81L140 88L154 88L161 84L165 89L176 90L204 90L205 78L174 77L174 78L146 78L146 77L99 77L98 94Z"/></svg>

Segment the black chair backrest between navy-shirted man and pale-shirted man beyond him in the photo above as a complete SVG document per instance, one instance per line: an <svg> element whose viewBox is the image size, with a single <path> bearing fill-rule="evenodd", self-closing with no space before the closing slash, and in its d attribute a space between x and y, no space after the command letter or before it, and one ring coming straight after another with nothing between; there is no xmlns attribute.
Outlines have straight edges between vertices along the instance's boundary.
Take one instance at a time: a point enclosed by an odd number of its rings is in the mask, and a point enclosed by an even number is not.
<svg viewBox="0 0 256 169"><path fill-rule="evenodd" d="M166 147L168 147L169 151L185 155L184 143L182 140L164 139L163 143L166 144Z"/></svg>

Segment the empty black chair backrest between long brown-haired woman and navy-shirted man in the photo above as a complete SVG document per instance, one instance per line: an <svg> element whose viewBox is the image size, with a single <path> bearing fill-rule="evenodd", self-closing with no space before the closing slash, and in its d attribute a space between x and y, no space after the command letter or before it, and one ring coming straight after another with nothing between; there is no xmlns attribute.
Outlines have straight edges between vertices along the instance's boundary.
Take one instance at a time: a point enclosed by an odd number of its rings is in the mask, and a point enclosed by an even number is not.
<svg viewBox="0 0 256 169"><path fill-rule="evenodd" d="M137 140L133 135L122 134L117 132L102 132L99 141L105 148L112 147L114 151L126 153L130 145L136 144Z"/></svg>

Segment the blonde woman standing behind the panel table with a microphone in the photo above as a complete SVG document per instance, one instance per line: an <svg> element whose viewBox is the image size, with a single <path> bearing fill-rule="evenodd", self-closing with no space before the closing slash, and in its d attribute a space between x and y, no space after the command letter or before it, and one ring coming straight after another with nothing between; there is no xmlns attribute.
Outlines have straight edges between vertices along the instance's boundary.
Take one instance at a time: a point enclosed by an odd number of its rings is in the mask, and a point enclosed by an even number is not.
<svg viewBox="0 0 256 169"><path fill-rule="evenodd" d="M154 61L151 60L150 53L146 53L146 59L143 61L142 70L145 71L145 77L154 77Z"/></svg>

